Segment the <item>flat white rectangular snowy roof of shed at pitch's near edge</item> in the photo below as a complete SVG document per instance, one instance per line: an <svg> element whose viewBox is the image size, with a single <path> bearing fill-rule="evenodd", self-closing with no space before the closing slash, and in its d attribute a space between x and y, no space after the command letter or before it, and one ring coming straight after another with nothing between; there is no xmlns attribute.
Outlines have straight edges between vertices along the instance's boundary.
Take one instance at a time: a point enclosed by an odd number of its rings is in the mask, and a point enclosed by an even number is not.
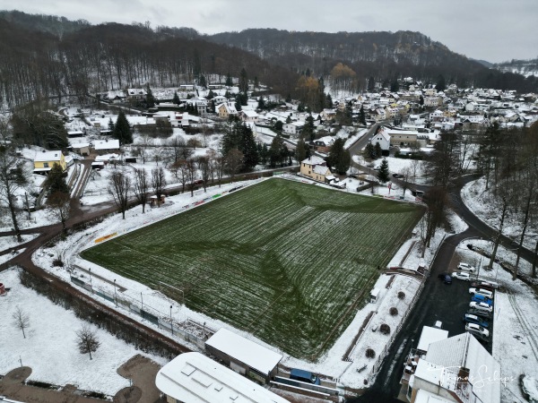
<svg viewBox="0 0 538 403"><path fill-rule="evenodd" d="M259 373L271 373L282 360L282 354L275 353L252 340L245 339L230 330L221 328L205 342L222 353L231 356Z"/></svg>

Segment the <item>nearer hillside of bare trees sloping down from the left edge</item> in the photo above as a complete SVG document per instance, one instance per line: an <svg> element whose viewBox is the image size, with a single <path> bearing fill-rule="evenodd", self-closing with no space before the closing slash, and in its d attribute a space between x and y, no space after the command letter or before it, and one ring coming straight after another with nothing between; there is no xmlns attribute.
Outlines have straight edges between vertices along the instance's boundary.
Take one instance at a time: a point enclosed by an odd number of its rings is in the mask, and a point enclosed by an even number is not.
<svg viewBox="0 0 538 403"><path fill-rule="evenodd" d="M40 21L42 16L35 16ZM189 39L195 38L195 39ZM263 82L285 93L297 74L244 50L200 38L193 30L117 23L81 26L62 35L0 19L0 96L9 107L38 97L192 83L212 74ZM210 82L211 83L211 82Z"/></svg>

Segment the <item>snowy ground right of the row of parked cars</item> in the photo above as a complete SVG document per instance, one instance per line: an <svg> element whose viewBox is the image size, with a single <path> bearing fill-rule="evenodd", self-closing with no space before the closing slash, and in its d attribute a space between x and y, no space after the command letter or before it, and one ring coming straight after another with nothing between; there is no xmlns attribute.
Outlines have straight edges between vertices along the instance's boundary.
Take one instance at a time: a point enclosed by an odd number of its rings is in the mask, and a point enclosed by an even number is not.
<svg viewBox="0 0 538 403"><path fill-rule="evenodd" d="M467 248L466 244L490 250L490 242L471 239L456 248L456 254L464 261L480 264L482 256ZM516 255L499 247L499 258L515 262ZM489 262L484 258L482 264ZM477 265L478 265L477 264ZM529 263L522 267L529 270ZM519 376L527 375L529 380L538 379L538 302L533 288L523 281L512 279L511 273L499 264L493 270L480 270L480 278L498 282L502 289L495 293L495 317L493 322L493 358L501 365L502 378L508 378L506 388L501 387L501 401L525 401L519 386ZM516 397L516 399L514 399Z"/></svg>

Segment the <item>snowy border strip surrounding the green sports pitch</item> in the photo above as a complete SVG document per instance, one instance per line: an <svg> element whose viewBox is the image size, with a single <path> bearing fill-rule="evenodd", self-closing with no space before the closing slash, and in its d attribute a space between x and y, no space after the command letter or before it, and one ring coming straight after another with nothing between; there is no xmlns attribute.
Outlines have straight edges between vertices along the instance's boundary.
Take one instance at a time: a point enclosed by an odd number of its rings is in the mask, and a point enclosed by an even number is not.
<svg viewBox="0 0 538 403"><path fill-rule="evenodd" d="M305 179L305 181L307 180ZM356 179L352 179L352 181L355 181L356 183L350 184L350 186L358 185L358 181ZM256 182L257 181L249 181L241 182L240 184L248 185L255 184ZM140 206L137 206L134 209L127 211L126 220L122 220L121 215L115 215L113 217L105 219L96 227L91 227L85 232L68 237L65 241L56 244L56 246L52 249L40 249L37 253L34 253L33 261L36 262L36 264L38 264L40 267L50 271L51 273L55 274L58 277L61 277L62 279L69 280L70 275L74 274L81 279L89 281L88 271L74 269L74 272L68 272L67 270L65 270L65 268L53 267L52 260L58 254L61 254L64 257L65 262L68 263L65 267L76 264L84 269L91 269L93 287L101 288L112 295L114 294L115 290L117 292L117 289L119 287L126 288L125 291L122 291L123 296L130 297L133 299L133 301L139 301L140 303L142 303L142 294L144 306L151 306L154 310L161 313L162 317L169 317L169 306L172 305L171 315L174 322L183 322L187 319L192 319L200 323L205 322L208 327L215 330L224 327L233 330L234 332L246 337L247 339L254 339L257 343L264 345L265 347L272 348L274 350L274 347L269 346L265 342L254 338L253 336L242 330L233 329L227 323L215 320L207 315L204 315L203 313L191 311L186 306L179 304L175 301L169 300L169 298L163 296L157 290L152 290L151 288L145 287L142 284L137 283L133 280L122 278L121 276L117 275L117 273L112 273L109 270L101 268L100 266L83 261L82 259L78 258L78 253L82 249L95 244L95 240L100 236L107 236L111 234L116 234L115 236L119 236L128 231L132 231L137 227L150 225L158 219L164 219L171 214L176 214L179 211L192 208L191 206L193 206L196 201L202 201L204 199L210 198L213 196L213 194L225 192L231 187L235 187L237 185L239 184L225 184L222 185L221 188L219 188L218 186L214 186L208 188L207 193L204 193L203 190L198 190L195 192L195 196L192 198L190 197L190 193L178 194L176 196L169 197L167 199L167 203L163 207L147 210L145 214L142 214ZM324 184L320 185L325 186ZM334 191L338 192L338 190ZM410 195L410 193L408 193L408 195ZM414 200L414 198L412 199ZM188 206L188 209L185 208L185 206ZM437 246L441 241L443 235L444 233L439 232L438 236L436 236L436 239L434 239L432 244L435 244ZM428 264L428 262L430 262L433 258L434 252L435 251L427 251L425 258L422 259L420 256L419 248L415 247L413 248L412 253L410 253L408 257L408 262L410 262L410 264L417 265L418 262L426 262L426 264ZM105 280L102 280L100 278L103 278ZM377 280L377 284L375 287L381 289L380 297L377 300L377 303L367 304L367 306L365 306L362 310L356 313L353 321L351 322L351 325L346 330L344 330L343 334L335 342L334 346L331 347L331 349L325 354L325 356L322 356L317 361L317 363L308 363L305 361L298 360L294 357L284 355L282 364L293 367L299 366L301 368L310 369L311 371L314 371L316 373L324 374L334 379L340 379L341 382L350 387L363 387L363 381L369 376L369 371L362 371L358 376L358 372L356 370L364 364L369 364L369 360L364 355L365 349L367 347L373 348L377 352L377 356L383 351L386 346L386 342L390 339L392 334L394 334L394 331L398 326L399 322L402 321L404 313L407 310L408 304L410 303L412 296L415 294L416 290L419 287L419 280L397 275L394 282L392 283L392 287L387 289L386 283L389 279L390 277L382 275ZM116 280L117 288L114 287L114 280ZM404 291L406 295L403 300L397 298L397 293L399 291ZM95 297L99 298L99 296ZM105 300L100 299L100 302L104 304L109 304L110 307L115 308L114 304L109 303ZM388 309L392 306L397 307L399 311L399 314L394 317L388 314ZM377 310L377 314L374 316L372 321L370 321L369 326L371 327L372 325L380 325L382 323L386 323L390 326L391 333L389 335L382 335L379 333L379 331L372 332L371 328L369 327L369 330L365 331L363 336L359 339L357 345L352 349L352 353L350 356L352 362L350 363L348 361L343 361L342 357L344 356L348 347L351 346L351 343L353 342L355 335L359 331L362 322L364 322L364 319L372 310ZM122 311L122 313L130 314L135 319L141 320L140 317L134 313L127 313L126 311ZM144 324L153 326L149 322L144 322ZM156 327L155 329L158 330ZM167 330L158 331L161 331L167 336L170 336ZM194 345L187 344L187 346L196 349Z"/></svg>

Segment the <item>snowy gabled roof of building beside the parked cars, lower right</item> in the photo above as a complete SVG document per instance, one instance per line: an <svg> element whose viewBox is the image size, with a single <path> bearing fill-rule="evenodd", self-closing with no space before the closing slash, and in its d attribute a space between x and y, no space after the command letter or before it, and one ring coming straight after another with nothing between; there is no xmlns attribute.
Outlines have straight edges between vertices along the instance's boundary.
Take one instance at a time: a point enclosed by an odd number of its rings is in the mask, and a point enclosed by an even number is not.
<svg viewBox="0 0 538 403"><path fill-rule="evenodd" d="M470 333L431 343L426 360L445 367L469 369L469 383L476 383L473 393L477 398L490 403L500 402L500 382L482 381L498 379L500 364Z"/></svg>

